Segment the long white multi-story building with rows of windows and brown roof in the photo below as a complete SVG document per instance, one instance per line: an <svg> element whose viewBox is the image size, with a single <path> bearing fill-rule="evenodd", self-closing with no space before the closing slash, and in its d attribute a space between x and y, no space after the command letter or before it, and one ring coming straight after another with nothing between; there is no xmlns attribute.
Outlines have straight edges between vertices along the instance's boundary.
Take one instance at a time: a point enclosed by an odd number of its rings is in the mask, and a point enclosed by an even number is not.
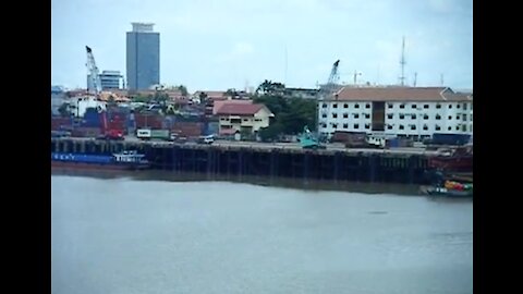
<svg viewBox="0 0 523 294"><path fill-rule="evenodd" d="M318 126L385 136L473 133L472 95L448 87L344 87L318 101Z"/></svg>

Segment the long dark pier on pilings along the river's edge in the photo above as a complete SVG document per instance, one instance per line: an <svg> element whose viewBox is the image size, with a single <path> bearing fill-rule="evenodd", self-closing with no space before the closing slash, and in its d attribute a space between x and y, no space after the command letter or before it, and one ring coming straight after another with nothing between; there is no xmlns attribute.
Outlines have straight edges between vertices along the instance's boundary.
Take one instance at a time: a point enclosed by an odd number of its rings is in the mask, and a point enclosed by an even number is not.
<svg viewBox="0 0 523 294"><path fill-rule="evenodd" d="M51 152L111 154L131 149L145 154L155 170L405 184L425 184L427 159L436 155L421 149L346 149L337 145L306 150L297 144L51 138Z"/></svg>

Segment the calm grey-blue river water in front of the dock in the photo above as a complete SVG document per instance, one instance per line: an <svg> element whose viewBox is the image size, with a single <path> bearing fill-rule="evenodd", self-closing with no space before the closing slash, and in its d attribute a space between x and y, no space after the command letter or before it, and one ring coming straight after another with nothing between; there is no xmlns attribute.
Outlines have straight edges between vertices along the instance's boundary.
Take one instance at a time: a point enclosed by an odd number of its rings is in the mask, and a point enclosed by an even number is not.
<svg viewBox="0 0 523 294"><path fill-rule="evenodd" d="M131 175L51 189L54 294L473 293L472 200Z"/></svg>

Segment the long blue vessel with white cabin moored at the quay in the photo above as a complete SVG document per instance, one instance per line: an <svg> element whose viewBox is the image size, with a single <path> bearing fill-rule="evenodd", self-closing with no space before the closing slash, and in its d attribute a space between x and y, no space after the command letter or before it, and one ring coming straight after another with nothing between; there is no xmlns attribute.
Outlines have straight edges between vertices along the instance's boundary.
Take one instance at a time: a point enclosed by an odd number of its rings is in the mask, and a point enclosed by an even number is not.
<svg viewBox="0 0 523 294"><path fill-rule="evenodd" d="M51 152L51 168L94 170L144 170L150 168L145 155L126 150L113 155Z"/></svg>

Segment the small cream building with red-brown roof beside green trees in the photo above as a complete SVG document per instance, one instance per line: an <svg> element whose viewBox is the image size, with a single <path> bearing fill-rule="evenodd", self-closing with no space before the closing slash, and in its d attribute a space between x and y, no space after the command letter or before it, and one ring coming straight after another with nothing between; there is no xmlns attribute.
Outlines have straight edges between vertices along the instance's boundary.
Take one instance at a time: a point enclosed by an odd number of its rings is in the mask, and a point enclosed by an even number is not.
<svg viewBox="0 0 523 294"><path fill-rule="evenodd" d="M240 133L254 134L269 126L272 112L264 105L226 103L217 111L219 133L223 135Z"/></svg>

